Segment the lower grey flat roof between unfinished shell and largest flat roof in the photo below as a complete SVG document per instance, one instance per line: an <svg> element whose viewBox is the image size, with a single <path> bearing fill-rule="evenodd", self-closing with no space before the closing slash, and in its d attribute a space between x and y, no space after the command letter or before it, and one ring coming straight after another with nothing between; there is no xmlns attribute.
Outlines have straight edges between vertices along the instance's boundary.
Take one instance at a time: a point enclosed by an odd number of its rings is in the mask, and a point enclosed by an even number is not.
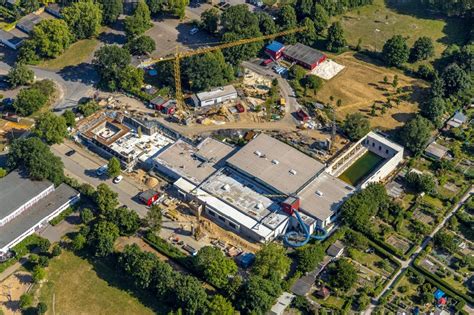
<svg viewBox="0 0 474 315"><path fill-rule="evenodd" d="M216 172L234 148L223 142L206 138L197 146L178 140L153 159L153 165L167 177L184 177L196 185Z"/></svg>

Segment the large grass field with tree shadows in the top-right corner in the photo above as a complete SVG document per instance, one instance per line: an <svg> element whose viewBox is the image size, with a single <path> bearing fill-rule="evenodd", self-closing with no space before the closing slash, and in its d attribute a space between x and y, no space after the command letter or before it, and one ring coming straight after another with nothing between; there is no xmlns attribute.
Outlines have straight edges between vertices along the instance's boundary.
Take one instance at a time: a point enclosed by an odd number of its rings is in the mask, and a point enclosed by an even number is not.
<svg viewBox="0 0 474 315"><path fill-rule="evenodd" d="M410 47L418 37L432 38L436 57L448 44L464 43L468 30L462 19L423 16L422 11L416 5L394 4L389 8L387 1L374 0L372 5L343 14L340 20L349 44L357 45L360 38L362 47L369 50L380 51L387 39L398 34L408 37Z"/></svg>

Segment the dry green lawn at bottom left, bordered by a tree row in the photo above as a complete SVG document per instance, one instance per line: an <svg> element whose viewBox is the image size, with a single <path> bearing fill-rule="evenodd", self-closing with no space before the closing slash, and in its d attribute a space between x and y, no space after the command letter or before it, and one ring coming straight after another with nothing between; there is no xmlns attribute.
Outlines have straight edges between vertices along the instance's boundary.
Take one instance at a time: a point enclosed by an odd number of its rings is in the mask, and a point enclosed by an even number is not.
<svg viewBox="0 0 474 315"><path fill-rule="evenodd" d="M133 293L117 286L124 287L126 282L113 267L105 263L92 265L63 251L51 260L46 281L37 295L48 305L49 314L53 310L56 314L154 314ZM162 310L167 311L166 307Z"/></svg>

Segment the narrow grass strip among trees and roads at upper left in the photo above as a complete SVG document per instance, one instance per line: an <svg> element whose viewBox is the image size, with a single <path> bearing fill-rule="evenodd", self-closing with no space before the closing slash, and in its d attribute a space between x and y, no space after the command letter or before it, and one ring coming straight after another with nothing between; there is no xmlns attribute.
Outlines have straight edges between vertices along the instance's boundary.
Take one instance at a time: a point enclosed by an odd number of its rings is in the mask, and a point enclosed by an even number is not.
<svg viewBox="0 0 474 315"><path fill-rule="evenodd" d="M48 70L61 70L68 66L78 65L89 59L99 44L97 39L84 39L71 45L61 56L45 60L38 66Z"/></svg>

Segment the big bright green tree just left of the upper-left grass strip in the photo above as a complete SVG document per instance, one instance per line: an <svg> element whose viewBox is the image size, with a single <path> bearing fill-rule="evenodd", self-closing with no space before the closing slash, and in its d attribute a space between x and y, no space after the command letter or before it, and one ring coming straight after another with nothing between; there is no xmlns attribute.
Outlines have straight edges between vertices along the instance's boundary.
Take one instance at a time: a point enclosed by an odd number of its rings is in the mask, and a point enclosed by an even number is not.
<svg viewBox="0 0 474 315"><path fill-rule="evenodd" d="M33 28L31 40L39 56L53 58L72 44L73 35L64 20L46 19Z"/></svg>

